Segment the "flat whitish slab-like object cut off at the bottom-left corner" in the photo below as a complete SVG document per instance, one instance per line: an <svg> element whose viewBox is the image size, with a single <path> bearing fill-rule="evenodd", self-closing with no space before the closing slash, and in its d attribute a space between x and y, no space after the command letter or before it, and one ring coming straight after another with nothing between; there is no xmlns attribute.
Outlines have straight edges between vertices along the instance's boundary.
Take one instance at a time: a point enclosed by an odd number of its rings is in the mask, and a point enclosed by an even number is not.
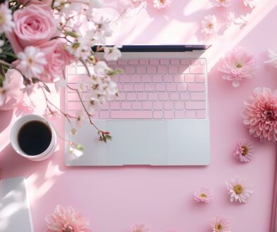
<svg viewBox="0 0 277 232"><path fill-rule="evenodd" d="M0 180L0 232L33 232L25 179Z"/></svg>

